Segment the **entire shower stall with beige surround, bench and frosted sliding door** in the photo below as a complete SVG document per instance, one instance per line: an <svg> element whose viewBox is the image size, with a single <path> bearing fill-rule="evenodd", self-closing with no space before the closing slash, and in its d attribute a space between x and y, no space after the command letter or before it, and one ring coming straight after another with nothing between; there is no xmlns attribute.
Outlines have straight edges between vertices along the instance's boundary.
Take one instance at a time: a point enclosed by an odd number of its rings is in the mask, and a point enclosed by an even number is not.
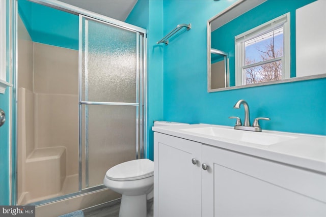
<svg viewBox="0 0 326 217"><path fill-rule="evenodd" d="M146 30L57 1L16 4L16 204L104 189L107 169L144 158Z"/></svg>

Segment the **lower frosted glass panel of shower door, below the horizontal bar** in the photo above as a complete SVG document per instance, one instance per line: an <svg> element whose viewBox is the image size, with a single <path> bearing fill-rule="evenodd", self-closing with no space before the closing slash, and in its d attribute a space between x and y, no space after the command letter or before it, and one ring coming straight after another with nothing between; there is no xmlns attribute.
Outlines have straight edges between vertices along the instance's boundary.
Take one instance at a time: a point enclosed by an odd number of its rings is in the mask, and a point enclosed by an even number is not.
<svg viewBox="0 0 326 217"><path fill-rule="evenodd" d="M135 159L136 112L136 106L83 105L83 128L88 121L88 144L85 135L82 140L86 150L88 145L89 187L103 184L111 167ZM85 157L83 153L84 162Z"/></svg>

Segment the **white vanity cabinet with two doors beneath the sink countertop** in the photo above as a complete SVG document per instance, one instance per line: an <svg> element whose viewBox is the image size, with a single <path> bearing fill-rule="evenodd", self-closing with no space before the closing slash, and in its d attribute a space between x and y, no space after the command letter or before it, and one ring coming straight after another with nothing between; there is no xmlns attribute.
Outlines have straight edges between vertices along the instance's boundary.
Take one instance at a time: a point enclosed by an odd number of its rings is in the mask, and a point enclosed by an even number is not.
<svg viewBox="0 0 326 217"><path fill-rule="evenodd" d="M155 217L326 213L320 172L157 132L154 165Z"/></svg>

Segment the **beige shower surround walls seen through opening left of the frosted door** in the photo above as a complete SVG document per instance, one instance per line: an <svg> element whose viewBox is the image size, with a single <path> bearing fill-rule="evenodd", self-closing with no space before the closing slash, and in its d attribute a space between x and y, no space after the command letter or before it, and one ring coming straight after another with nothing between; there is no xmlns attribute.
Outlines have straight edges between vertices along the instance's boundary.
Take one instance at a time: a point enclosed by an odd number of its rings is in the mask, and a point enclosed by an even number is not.
<svg viewBox="0 0 326 217"><path fill-rule="evenodd" d="M66 175L77 174L78 51L33 42L18 16L17 80L25 89L18 96L18 172L34 149L65 146Z"/></svg>

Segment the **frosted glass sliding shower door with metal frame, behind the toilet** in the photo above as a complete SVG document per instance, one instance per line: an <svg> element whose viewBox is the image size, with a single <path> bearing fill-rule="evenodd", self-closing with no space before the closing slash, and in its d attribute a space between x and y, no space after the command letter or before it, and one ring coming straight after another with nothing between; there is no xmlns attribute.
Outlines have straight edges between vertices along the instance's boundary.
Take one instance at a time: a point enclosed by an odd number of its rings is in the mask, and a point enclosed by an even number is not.
<svg viewBox="0 0 326 217"><path fill-rule="evenodd" d="M79 190L143 158L144 36L79 15Z"/></svg>

